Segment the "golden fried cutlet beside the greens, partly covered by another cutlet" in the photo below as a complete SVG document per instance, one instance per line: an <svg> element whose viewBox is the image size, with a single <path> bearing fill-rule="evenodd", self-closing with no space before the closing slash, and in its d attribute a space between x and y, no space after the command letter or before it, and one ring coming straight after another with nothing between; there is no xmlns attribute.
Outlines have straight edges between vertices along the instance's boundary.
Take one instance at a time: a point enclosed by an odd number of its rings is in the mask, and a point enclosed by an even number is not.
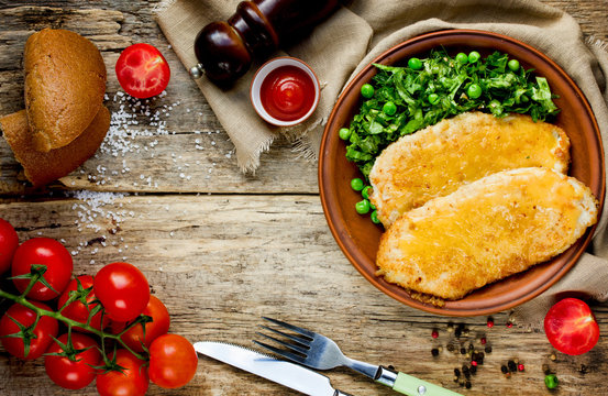
<svg viewBox="0 0 608 396"><path fill-rule="evenodd" d="M401 213L496 172L543 166L566 173L568 151L562 129L528 116L463 113L386 147L369 174L372 204L388 228Z"/></svg>

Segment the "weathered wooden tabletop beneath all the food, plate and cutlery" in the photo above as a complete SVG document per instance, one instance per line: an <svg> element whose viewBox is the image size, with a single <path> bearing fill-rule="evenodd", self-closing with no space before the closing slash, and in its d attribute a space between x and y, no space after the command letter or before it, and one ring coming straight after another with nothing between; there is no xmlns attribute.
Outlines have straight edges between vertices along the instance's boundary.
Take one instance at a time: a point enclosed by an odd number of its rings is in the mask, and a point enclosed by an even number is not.
<svg viewBox="0 0 608 396"><path fill-rule="evenodd" d="M235 4L236 0L231 0ZM544 1L570 12L586 36L608 42L606 0ZM594 310L598 345L583 356L556 353L543 333L507 328L507 312L446 318L404 306L367 283L334 242L322 212L317 164L279 141L262 155L255 175L243 175L233 145L170 51L154 22L156 1L0 0L0 114L23 108L23 44L51 26L88 36L108 67L111 136L95 158L44 190L23 182L21 168L0 141L0 217L21 241L60 240L73 252L76 274L128 261L147 276L153 294L172 315L170 331L190 341L217 340L252 346L261 316L299 323L331 336L352 358L394 365L467 395L604 395L608 393L608 308ZM151 43L172 67L166 96L135 103L119 92L113 73L120 52ZM145 112L158 113L151 124ZM467 329L455 339L450 323ZM433 329L439 338L431 337ZM485 336L493 353L472 377L453 382L466 359L446 344ZM439 356L431 349L443 346ZM555 361L550 355L555 353ZM509 359L526 364L510 378ZM542 365L561 383L549 392ZM391 395L347 370L328 372L332 384L354 395ZM93 385L82 392L95 394ZM0 346L0 394L68 394L44 373L42 360L23 362ZM201 358L195 380L178 391L151 385L150 395L291 395L287 388Z"/></svg>

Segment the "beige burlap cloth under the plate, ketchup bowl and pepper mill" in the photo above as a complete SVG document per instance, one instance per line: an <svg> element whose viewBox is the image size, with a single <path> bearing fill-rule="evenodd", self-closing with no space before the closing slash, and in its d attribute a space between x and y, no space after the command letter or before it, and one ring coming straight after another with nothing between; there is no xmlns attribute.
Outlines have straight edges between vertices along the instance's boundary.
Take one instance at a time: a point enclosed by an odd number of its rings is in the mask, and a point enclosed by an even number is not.
<svg viewBox="0 0 608 396"><path fill-rule="evenodd" d="M157 10L157 22L177 56L189 68L196 57L192 43L198 31L214 20L226 20L240 0L167 0ZM236 147L239 166L254 170L259 154L278 133L316 155L322 125L350 76L382 52L407 38L441 29L477 29L523 41L549 55L577 82L592 103L608 146L608 54L603 43L583 37L572 16L532 0L353 0L343 2L329 20L317 26L289 55L306 61L322 85L321 102L303 125L278 130L263 122L248 100L254 65L230 90L204 78L197 81ZM606 211L605 211L606 212ZM538 327L557 298L575 293L599 301L608 299L607 216L600 219L593 246L576 266L540 297L512 312L516 322Z"/></svg>

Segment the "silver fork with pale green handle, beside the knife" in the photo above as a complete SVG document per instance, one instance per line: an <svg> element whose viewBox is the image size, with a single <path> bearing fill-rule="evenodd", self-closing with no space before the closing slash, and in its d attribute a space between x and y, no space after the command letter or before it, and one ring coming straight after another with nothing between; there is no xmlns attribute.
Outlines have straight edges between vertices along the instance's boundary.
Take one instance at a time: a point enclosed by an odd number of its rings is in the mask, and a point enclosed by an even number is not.
<svg viewBox="0 0 608 396"><path fill-rule="evenodd" d="M414 376L396 372L382 365L373 365L346 358L333 340L313 331L306 330L277 319L272 319L267 317L262 317L262 319L280 326L284 329L288 329L296 334L287 333L285 331L276 330L270 327L261 324L261 328L268 330L275 334L281 336L283 338L286 338L291 342L284 341L281 339L262 332L256 333L279 343L280 345L287 348L287 350L279 349L256 340L253 340L253 342L276 353L277 355L286 358L301 365L317 370L330 370L339 366L346 366L368 376L375 382L378 382L386 386L390 386L393 391L397 391L409 396L462 396L458 393L419 380Z"/></svg>

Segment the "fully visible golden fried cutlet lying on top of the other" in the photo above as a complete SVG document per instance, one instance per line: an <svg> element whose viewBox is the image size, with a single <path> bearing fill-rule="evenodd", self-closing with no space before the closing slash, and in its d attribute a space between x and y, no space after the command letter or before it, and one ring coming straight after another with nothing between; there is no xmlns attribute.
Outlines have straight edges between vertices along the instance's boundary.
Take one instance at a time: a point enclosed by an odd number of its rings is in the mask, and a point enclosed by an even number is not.
<svg viewBox="0 0 608 396"><path fill-rule="evenodd" d="M458 299L570 248L597 221L597 200L573 177L504 170L402 215L384 233L377 275Z"/></svg>

